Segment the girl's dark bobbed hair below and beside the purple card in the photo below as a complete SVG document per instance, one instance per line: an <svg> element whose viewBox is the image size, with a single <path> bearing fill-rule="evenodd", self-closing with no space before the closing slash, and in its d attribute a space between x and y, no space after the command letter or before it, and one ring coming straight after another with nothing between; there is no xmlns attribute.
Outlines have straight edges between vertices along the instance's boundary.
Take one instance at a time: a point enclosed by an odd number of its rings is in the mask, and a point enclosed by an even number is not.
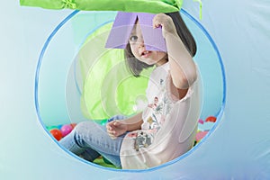
<svg viewBox="0 0 270 180"><path fill-rule="evenodd" d="M174 13L167 13L166 15L172 18L173 22L175 23L175 28L178 36L183 41L185 48L189 51L189 53L193 57L197 51L196 42L193 38L192 33L186 27L181 17L181 14L179 12L174 12ZM135 58L131 52L130 43L128 43L126 46L124 56L126 59L127 67L130 69L130 72L133 74L133 76L139 76L140 72L144 68L153 66L141 62L137 58Z"/></svg>

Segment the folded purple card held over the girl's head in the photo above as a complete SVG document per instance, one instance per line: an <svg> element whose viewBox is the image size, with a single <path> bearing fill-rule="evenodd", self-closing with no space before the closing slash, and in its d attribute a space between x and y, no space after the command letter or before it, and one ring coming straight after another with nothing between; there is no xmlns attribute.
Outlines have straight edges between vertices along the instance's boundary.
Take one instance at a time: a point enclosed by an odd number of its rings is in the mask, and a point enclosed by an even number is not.
<svg viewBox="0 0 270 180"><path fill-rule="evenodd" d="M153 29L152 21L155 15L156 14L119 12L115 17L105 47L125 49L130 37L130 32L138 18L146 49L166 52L166 41L163 38L161 28Z"/></svg>

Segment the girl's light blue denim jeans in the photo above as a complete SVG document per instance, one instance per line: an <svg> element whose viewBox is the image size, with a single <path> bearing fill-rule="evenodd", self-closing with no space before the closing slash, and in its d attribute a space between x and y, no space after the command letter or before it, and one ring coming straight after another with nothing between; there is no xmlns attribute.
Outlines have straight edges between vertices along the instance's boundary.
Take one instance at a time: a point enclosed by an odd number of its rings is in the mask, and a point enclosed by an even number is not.
<svg viewBox="0 0 270 180"><path fill-rule="evenodd" d="M123 116L114 116L108 121L123 119ZM121 167L120 148L125 134L117 139L111 139L106 127L94 121L83 121L76 125L59 143L77 156L93 162L102 155L114 166Z"/></svg>

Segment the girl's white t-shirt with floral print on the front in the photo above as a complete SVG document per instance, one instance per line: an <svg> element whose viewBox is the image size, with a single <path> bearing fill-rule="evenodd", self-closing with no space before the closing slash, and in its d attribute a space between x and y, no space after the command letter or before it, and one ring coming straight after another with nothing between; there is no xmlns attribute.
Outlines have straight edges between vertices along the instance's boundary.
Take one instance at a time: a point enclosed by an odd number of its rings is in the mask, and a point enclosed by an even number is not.
<svg viewBox="0 0 270 180"><path fill-rule="evenodd" d="M199 74L198 74L199 75ZM147 88L148 107L141 130L128 133L121 144L121 166L144 169L159 166L193 148L201 112L198 80L179 100L169 74L169 64L157 67Z"/></svg>

